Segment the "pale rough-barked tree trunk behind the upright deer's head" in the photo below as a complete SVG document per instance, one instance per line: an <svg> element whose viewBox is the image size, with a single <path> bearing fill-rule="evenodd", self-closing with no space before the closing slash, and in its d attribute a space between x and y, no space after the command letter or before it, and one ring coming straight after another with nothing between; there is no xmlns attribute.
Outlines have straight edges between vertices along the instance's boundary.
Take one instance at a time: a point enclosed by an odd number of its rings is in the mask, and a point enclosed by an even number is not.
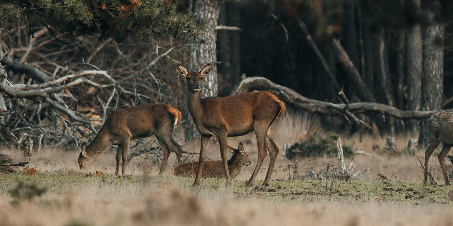
<svg viewBox="0 0 453 226"><path fill-rule="evenodd" d="M193 13L198 16L198 24L206 26L206 34L193 40L189 47L190 70L200 71L207 64L212 63L211 72L203 78L201 98L217 96L217 19L219 17L220 1L218 0L194 0ZM186 114L186 140L194 140L200 134L193 123L192 116Z"/></svg>

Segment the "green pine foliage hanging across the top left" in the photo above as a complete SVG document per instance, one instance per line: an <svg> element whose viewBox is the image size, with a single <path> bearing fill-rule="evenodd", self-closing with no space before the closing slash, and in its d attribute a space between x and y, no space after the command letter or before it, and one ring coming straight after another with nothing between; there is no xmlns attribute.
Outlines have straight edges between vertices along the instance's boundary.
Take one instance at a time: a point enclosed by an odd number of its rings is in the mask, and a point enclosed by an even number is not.
<svg viewBox="0 0 453 226"><path fill-rule="evenodd" d="M112 35L131 41L159 34L190 40L204 34L181 0L7 0L0 3L1 28L47 25L67 40Z"/></svg>

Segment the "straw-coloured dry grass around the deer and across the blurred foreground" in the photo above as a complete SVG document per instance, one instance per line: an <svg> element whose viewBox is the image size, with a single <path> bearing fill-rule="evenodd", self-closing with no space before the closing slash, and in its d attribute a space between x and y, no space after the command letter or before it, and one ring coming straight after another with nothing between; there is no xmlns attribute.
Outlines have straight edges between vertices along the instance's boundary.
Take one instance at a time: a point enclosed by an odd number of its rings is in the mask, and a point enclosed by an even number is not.
<svg viewBox="0 0 453 226"><path fill-rule="evenodd" d="M272 128L272 135L280 148L285 142L290 144L304 139L311 132L323 132L316 117L287 113L278 119ZM398 148L407 145L410 137L395 138ZM385 138L371 136L342 136L347 144L354 143L358 150L371 155L356 155L353 160L356 169L370 168L366 179L373 182L377 172L391 176L400 171L399 181L420 183L423 171L414 157L387 157L372 153L372 145L385 146ZM63 226L63 225L451 225L451 204L420 205L395 202L377 202L375 198L356 201L353 198L337 199L323 195L299 195L297 198L285 198L282 194L253 193L240 184L247 180L256 163L255 135L228 138L231 146L239 141L250 154L252 165L243 167L236 178L233 189L222 188L222 182L212 186L192 189L193 179L180 179L172 176L176 163L174 154L163 178L155 178L156 165L136 158L130 164L128 173L134 170L130 180L102 177L84 177L87 172L100 170L113 174L115 153L105 151L96 160L91 169L81 171L77 166L79 153L58 149L43 149L32 158L29 167L36 167L40 174L22 175L29 182L45 184L50 187L48 193L34 201L22 202L19 206L10 204L12 198L6 190L14 186L14 175L0 178L0 226ZM199 141L186 144L186 147L198 152ZM208 146L208 156L220 159L217 142L212 139ZM419 151L423 158L424 150ZM9 154L20 160L16 150L4 149L1 153ZM283 151L280 151L283 154ZM325 167L326 163L336 163L336 159L304 159L299 161L299 171L308 171L313 163L315 171ZM346 160L348 164L351 160ZM283 168L291 162L283 156L278 157L273 179L285 179ZM264 179L267 172L266 159L258 174ZM432 170L437 172L439 181L440 166L437 158L432 158ZM47 171L47 172L46 172ZM257 182L259 183L259 182ZM355 183L355 182L354 182ZM219 185L220 184L220 185ZM279 185L277 181L272 186ZM301 189L301 188L300 188ZM441 190L445 193L448 188ZM244 192L245 191L245 192ZM384 193L384 192L382 192ZM274 196L275 195L275 196ZM446 197L446 194L441 194ZM294 199L293 199L294 198ZM307 199L308 198L308 199ZM314 202L310 202L314 200Z"/></svg>

